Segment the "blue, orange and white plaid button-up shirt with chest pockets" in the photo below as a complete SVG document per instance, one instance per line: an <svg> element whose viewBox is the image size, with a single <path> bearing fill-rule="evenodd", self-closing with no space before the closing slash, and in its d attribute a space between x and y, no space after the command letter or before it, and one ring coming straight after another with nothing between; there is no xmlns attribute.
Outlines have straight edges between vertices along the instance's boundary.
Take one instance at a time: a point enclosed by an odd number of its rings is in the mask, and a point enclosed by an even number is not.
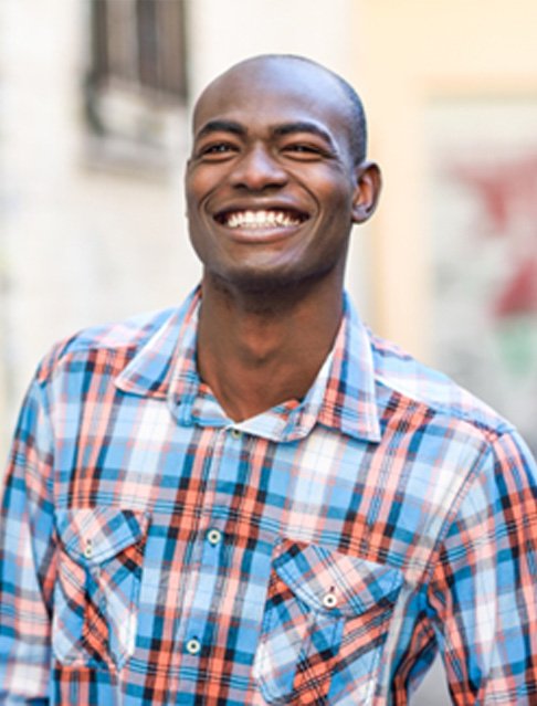
<svg viewBox="0 0 537 706"><path fill-rule="evenodd" d="M513 428L346 301L299 404L230 421L199 295L41 365L3 498L0 702L537 703L536 477Z"/></svg>

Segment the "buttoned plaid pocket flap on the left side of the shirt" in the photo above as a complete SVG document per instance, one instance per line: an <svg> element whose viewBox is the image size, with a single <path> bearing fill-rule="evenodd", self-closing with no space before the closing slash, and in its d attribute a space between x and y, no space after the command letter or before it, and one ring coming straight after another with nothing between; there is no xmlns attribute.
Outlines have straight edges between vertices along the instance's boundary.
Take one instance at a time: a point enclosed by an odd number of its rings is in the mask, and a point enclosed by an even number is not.
<svg viewBox="0 0 537 706"><path fill-rule="evenodd" d="M95 507L56 510L56 529L66 552L78 563L103 563L138 542L149 516L140 510Z"/></svg>

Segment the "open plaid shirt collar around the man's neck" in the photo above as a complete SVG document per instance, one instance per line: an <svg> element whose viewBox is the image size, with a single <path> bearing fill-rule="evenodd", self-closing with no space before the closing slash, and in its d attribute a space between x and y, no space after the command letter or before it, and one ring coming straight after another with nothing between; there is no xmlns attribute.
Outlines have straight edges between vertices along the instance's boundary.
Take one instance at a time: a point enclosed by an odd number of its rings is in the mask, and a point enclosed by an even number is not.
<svg viewBox="0 0 537 706"><path fill-rule="evenodd" d="M369 336L347 295L333 350L304 400L277 405L241 423L225 417L198 376L200 299L198 287L116 378L119 389L167 398L182 425L233 426L272 441L291 442L306 436L318 423L356 439L380 440Z"/></svg>

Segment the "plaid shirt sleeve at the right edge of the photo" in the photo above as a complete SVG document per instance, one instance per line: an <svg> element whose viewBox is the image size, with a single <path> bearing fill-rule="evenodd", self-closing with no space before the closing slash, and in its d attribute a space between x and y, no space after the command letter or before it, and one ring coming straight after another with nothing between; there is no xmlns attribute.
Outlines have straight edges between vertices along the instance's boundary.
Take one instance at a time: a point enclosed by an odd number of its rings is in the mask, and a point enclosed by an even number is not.
<svg viewBox="0 0 537 706"><path fill-rule="evenodd" d="M440 551L429 604L454 704L537 703L537 467L492 443Z"/></svg>

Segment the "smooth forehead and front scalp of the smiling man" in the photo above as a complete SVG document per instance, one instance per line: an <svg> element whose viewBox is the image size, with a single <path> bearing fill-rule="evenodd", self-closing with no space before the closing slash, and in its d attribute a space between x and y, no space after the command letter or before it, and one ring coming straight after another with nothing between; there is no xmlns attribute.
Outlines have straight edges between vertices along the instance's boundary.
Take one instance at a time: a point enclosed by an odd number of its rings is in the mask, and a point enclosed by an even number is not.
<svg viewBox="0 0 537 706"><path fill-rule="evenodd" d="M233 119L252 130L314 122L336 140L347 140L351 130L348 101L337 81L297 61L246 62L217 78L196 106L194 134L218 119Z"/></svg>

